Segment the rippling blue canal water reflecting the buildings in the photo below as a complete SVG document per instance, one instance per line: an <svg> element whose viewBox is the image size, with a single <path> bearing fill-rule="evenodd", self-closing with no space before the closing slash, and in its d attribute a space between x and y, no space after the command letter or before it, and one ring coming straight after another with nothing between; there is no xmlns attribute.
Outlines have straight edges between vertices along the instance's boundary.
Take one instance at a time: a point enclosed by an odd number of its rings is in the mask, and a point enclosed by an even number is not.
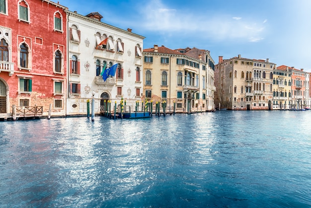
<svg viewBox="0 0 311 208"><path fill-rule="evenodd" d="M0 122L0 207L311 207L311 111Z"/></svg>

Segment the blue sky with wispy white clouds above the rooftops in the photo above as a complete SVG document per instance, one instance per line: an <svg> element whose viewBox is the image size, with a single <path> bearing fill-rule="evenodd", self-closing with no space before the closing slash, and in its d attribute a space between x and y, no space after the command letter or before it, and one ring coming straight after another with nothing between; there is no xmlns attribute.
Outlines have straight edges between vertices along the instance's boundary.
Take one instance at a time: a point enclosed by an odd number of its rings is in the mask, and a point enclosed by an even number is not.
<svg viewBox="0 0 311 208"><path fill-rule="evenodd" d="M196 47L311 72L311 0L59 0L146 37L144 49Z"/></svg>

